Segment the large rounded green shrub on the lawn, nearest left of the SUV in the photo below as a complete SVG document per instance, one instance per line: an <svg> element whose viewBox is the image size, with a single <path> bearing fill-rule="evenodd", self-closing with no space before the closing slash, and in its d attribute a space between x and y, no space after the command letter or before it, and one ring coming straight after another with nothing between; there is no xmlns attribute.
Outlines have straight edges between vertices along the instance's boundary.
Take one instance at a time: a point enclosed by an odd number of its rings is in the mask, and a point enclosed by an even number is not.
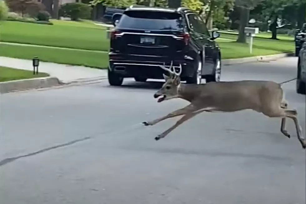
<svg viewBox="0 0 306 204"><path fill-rule="evenodd" d="M59 14L62 17L70 17L72 21L88 19L91 14L91 7L85 3L65 3L61 6Z"/></svg>

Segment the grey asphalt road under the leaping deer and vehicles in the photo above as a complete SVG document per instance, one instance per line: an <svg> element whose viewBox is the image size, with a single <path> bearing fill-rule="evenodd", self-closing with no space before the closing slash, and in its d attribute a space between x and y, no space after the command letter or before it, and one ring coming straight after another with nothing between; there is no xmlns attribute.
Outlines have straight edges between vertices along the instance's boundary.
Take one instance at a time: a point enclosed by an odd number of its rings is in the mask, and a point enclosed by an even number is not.
<svg viewBox="0 0 306 204"><path fill-rule="evenodd" d="M296 77L296 57L225 66L221 80ZM288 120L253 111L202 113L167 137L187 102L157 103L161 83L126 80L3 94L1 204L304 204L305 150ZM283 85L305 135L305 96Z"/></svg>

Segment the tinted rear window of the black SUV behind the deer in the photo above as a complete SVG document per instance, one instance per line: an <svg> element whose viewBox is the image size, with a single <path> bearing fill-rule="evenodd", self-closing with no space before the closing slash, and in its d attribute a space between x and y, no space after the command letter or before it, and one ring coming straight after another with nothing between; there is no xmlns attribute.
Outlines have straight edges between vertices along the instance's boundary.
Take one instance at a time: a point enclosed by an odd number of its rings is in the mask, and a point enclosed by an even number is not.
<svg viewBox="0 0 306 204"><path fill-rule="evenodd" d="M182 15L172 12L126 11L121 16L120 28L144 30L182 30Z"/></svg>

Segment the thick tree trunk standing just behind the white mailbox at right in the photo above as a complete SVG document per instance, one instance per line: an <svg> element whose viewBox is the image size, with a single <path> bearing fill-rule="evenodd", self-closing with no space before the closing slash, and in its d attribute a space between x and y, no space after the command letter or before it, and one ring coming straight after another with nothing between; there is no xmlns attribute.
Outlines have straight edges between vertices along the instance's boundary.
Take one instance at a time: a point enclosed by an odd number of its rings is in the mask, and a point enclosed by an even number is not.
<svg viewBox="0 0 306 204"><path fill-rule="evenodd" d="M249 22L250 10L253 9L262 0L236 0L235 5L240 8L239 20L239 35L237 42L246 42L246 35L244 33L245 27Z"/></svg>

